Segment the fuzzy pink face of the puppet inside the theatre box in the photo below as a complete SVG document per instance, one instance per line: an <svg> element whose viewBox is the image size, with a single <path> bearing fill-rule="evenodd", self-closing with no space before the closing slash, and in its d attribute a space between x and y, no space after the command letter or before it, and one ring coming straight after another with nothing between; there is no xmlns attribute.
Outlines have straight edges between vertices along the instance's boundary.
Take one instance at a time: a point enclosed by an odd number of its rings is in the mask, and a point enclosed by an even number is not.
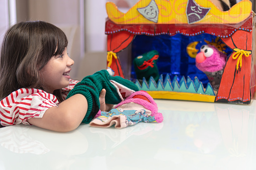
<svg viewBox="0 0 256 170"><path fill-rule="evenodd" d="M196 62L196 67L203 72L216 72L224 69L226 65L227 56L220 52L215 46L208 45L213 49L213 54L202 63Z"/></svg>

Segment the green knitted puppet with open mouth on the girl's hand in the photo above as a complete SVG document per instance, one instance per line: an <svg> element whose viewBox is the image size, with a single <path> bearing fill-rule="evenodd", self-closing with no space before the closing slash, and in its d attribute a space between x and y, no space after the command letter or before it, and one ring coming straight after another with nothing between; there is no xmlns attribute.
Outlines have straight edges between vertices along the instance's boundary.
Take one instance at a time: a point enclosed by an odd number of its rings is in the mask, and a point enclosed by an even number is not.
<svg viewBox="0 0 256 170"><path fill-rule="evenodd" d="M82 94L87 98L88 110L82 123L90 123L100 109L100 93L106 89L105 102L108 104L118 104L126 97L138 91L138 87L131 81L119 76L113 76L112 69L101 70L93 75L84 77L68 93L67 98Z"/></svg>

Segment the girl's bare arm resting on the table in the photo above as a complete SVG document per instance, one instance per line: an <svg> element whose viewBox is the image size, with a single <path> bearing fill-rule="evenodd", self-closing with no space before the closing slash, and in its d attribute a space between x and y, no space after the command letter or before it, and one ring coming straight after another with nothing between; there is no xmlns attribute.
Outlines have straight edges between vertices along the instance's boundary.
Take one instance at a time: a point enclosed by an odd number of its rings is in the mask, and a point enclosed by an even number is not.
<svg viewBox="0 0 256 170"><path fill-rule="evenodd" d="M105 94L106 90L100 94L100 103L103 105L105 105ZM68 132L79 126L87 108L87 99L81 94L75 94L61 102L58 107L48 108L42 118L30 118L28 122L44 129Z"/></svg>

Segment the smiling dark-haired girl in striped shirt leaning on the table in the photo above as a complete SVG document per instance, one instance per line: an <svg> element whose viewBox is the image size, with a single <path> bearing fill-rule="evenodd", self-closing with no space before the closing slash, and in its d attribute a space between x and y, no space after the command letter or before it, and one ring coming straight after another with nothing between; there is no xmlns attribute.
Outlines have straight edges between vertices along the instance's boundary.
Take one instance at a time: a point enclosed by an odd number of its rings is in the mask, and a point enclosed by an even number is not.
<svg viewBox="0 0 256 170"><path fill-rule="evenodd" d="M111 92L105 90L108 79L98 80L107 73L96 75L101 88L91 81L84 85L70 79L74 61L67 54L67 43L63 31L42 21L21 22L7 31L0 56L2 126L23 123L66 132L77 128L87 114L92 119L99 109L117 104L105 104L105 95Z"/></svg>

